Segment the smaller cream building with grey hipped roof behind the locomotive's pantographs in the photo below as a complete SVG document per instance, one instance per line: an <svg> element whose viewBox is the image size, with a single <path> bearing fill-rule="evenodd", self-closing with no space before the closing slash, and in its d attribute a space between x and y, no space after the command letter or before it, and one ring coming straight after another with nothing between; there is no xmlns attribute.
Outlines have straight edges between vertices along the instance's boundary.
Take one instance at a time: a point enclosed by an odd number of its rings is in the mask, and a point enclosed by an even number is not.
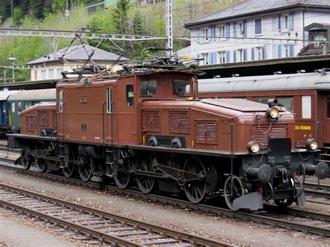
<svg viewBox="0 0 330 247"><path fill-rule="evenodd" d="M92 60L98 66L111 67L113 62L117 60L118 55L111 52L104 51L89 45L74 45L72 47L65 47L59 51L47 54L40 58L26 63L31 67L31 81L39 81L46 79L61 79L63 76L61 72L72 72L73 69L79 70L88 60L89 54L94 54ZM127 58L120 58L119 62L127 61ZM97 69L93 67L93 63L89 61L87 66L91 70ZM120 70L121 66L116 64L113 70ZM68 74L67 77L77 77L77 74Z"/></svg>

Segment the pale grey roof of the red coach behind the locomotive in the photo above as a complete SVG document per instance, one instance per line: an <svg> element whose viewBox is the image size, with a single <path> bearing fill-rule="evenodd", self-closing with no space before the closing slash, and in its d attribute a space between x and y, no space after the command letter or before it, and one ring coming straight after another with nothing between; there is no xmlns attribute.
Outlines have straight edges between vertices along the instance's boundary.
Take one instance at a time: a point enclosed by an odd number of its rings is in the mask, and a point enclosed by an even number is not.
<svg viewBox="0 0 330 247"><path fill-rule="evenodd" d="M199 93L304 89L330 90L330 73L273 74L198 80Z"/></svg>

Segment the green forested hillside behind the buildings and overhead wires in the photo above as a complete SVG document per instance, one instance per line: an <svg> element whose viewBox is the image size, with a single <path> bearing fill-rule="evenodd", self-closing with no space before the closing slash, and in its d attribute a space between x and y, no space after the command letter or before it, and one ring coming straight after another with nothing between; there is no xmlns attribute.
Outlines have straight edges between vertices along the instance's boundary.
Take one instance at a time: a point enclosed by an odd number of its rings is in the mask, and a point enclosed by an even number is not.
<svg viewBox="0 0 330 247"><path fill-rule="evenodd" d="M10 0L0 0L0 27L12 27ZM189 35L184 29L184 23L203 17L239 0L174 0L173 6L173 33L175 36ZM91 13L84 4L95 0L68 0L70 16L65 15L66 0L13 0L14 29L51 29L77 31L95 28L100 32L127 33L139 35L165 35L166 9L165 3L150 5L130 4L129 0L118 0L117 4L107 9L97 9ZM58 49L66 47L71 40L60 39ZM91 42L91 45L95 42ZM141 54L141 50L148 46L166 46L165 40L148 42L116 42L125 50L124 56L134 58ZM189 45L187 40L174 40L175 49ZM107 47L102 47L107 49ZM0 36L0 65L10 66L8 58L15 57L15 65L25 63L45 56L53 51L52 38L39 37L5 37ZM113 52L113 51L111 51ZM7 75L11 73L6 69ZM0 67L0 78L3 77L3 68ZM8 76L7 76L8 77ZM10 77L10 76L9 76ZM29 70L16 70L17 81L29 80ZM1 83L1 81L0 81Z"/></svg>

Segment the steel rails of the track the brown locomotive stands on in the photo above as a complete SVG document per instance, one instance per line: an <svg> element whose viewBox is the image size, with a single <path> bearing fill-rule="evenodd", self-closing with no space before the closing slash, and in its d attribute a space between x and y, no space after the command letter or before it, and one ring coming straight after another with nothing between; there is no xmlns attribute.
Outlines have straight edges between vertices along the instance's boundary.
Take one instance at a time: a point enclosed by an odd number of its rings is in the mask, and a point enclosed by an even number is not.
<svg viewBox="0 0 330 247"><path fill-rule="evenodd" d="M5 165L3 165L3 166L5 166ZM13 166L7 166L7 167L13 168ZM175 199L175 198L166 198L164 196L151 195L151 194L146 195L141 192L133 191L133 190L129 190L129 189L121 190L115 186L100 184L97 182L83 182L81 180L67 179L65 177L61 177L58 175L49 175L46 173L36 173L31 170L24 170L24 169L17 169L17 168L15 168L15 170L21 170L23 173L25 172L25 173L29 173L29 174L36 174L41 177L46 177L46 178L50 178L50 179L54 179L54 180L71 182L72 184L79 184L81 186L88 186L93 189L107 189L109 191L114 191L116 193L124 194L126 196L134 196L136 198L143 198L143 199L152 200L155 202L162 202L162 203L166 203L168 205L174 205L174 206L180 206L180 207L184 207L184 208L194 209L197 212L206 212L206 213L211 213L211 214L217 214L220 216L221 215L229 216L232 218L239 218L244 221L265 223L267 225L274 225L274 226L277 226L280 228L293 229L293 230L298 230L301 232L309 232L309 233L313 233L313 234L319 234L322 236L330 237L329 228L321 228L321 227L318 227L315 225L305 225L302 223L294 223L292 221L286 221L286 220L271 217L271 216L262 216L262 215L258 214L258 212L256 212L256 213L233 212L230 209L224 209L224 208L214 207L214 206L210 206L210 205L201 205L201 204L195 205L195 204L192 204L191 202L187 202L187 201ZM274 206L274 207L276 207L276 206ZM293 214L293 212L297 209L290 208L289 210L290 210L290 214ZM308 214L308 216L306 216L306 215L305 216L308 218L316 218L316 219L322 218L322 216L320 216L320 213L315 213L315 214L314 213L315 212L308 212L308 213L306 213L306 214ZM298 214L298 212L296 214ZM329 218L329 215L324 214L324 218Z"/></svg>

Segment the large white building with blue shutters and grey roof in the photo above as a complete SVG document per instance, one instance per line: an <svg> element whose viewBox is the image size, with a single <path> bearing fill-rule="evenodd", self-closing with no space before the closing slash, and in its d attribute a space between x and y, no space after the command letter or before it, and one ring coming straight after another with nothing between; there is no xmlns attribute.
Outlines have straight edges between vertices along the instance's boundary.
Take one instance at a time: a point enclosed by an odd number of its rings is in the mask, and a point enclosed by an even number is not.
<svg viewBox="0 0 330 247"><path fill-rule="evenodd" d="M200 65L297 56L312 23L330 24L330 0L245 0L185 24Z"/></svg>

